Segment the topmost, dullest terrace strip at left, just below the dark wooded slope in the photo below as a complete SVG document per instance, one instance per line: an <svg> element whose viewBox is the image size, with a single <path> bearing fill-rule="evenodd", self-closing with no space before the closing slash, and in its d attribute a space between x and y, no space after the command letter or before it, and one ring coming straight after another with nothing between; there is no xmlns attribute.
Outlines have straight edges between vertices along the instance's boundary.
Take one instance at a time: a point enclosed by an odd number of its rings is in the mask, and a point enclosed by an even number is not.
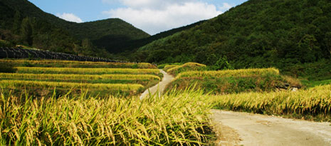
<svg viewBox="0 0 331 146"><path fill-rule="evenodd" d="M16 67L56 67L56 68L149 68L157 69L150 63L106 63L90 61L61 61L61 60L9 60L0 59L0 63L11 63Z"/></svg>

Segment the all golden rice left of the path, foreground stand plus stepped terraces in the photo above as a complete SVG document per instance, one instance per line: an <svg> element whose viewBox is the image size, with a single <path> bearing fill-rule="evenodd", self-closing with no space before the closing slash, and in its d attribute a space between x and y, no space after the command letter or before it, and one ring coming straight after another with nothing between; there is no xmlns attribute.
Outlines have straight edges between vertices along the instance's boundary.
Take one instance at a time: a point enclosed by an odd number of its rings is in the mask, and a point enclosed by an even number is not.
<svg viewBox="0 0 331 146"><path fill-rule="evenodd" d="M205 145L214 137L200 91L140 100L162 80L158 69L11 62L14 73L0 73L0 145Z"/></svg>

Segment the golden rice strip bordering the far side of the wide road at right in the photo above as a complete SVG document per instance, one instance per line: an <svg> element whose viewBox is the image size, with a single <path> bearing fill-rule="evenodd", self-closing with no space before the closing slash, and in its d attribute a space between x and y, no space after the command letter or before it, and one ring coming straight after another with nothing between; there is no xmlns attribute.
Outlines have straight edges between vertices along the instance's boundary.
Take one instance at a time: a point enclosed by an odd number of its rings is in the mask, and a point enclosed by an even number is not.
<svg viewBox="0 0 331 146"><path fill-rule="evenodd" d="M331 115L331 85L298 92L240 93L212 95L216 108L253 111L274 115Z"/></svg>

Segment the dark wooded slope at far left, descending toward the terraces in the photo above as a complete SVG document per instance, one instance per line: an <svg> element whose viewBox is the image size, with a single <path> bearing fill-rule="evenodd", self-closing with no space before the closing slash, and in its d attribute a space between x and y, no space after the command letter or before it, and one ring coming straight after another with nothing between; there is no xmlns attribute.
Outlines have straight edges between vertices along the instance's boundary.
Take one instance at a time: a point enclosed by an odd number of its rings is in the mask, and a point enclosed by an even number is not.
<svg viewBox="0 0 331 146"><path fill-rule="evenodd" d="M3 41L0 46L19 44L61 53L109 57L107 51L96 48L88 39L80 41L46 20L24 16L21 11L11 9L1 2L0 6L1 14L4 14L1 16L0 39Z"/></svg>

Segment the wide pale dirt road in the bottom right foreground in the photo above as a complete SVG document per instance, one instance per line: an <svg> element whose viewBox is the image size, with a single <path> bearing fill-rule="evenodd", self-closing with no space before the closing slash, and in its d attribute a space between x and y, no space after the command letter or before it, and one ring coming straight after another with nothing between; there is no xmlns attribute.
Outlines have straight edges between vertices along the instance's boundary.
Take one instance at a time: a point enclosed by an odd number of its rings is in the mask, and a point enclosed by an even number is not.
<svg viewBox="0 0 331 146"><path fill-rule="evenodd" d="M331 145L331 123L212 110L216 145ZM223 132L222 132L223 131Z"/></svg>

